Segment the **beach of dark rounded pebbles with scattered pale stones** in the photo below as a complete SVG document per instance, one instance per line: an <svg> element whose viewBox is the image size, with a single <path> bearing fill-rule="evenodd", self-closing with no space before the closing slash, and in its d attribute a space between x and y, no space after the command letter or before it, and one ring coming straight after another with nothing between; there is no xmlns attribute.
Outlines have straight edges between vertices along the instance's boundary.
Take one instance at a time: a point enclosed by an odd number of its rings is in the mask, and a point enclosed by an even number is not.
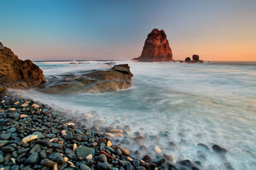
<svg viewBox="0 0 256 170"><path fill-rule="evenodd" d="M2 94L0 101L1 169L199 169L190 160L173 164L157 147L156 157L134 159L111 141L122 130L92 131L77 117L12 92Z"/></svg>

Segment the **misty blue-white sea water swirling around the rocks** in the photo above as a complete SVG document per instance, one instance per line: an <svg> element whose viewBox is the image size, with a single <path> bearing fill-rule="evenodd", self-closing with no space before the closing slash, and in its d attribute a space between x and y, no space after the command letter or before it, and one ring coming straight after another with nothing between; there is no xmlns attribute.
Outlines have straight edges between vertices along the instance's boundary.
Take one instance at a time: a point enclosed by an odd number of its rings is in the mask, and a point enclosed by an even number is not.
<svg viewBox="0 0 256 170"><path fill-rule="evenodd" d="M80 64L35 62L45 76L92 69L109 69L106 61ZM76 113L96 111L104 124L129 125L131 134L156 135L147 139L148 152L159 146L177 160L200 160L202 169L256 169L256 62L141 63L131 67L132 87L102 94L41 94L19 90L22 96ZM123 138L114 143L122 143ZM126 139L126 138L125 138ZM127 148L140 145L127 138ZM175 147L170 146L175 143ZM228 150L225 157L198 147L216 144ZM147 153L147 152L145 152ZM143 152L140 157L143 156ZM151 153L153 154L153 153Z"/></svg>

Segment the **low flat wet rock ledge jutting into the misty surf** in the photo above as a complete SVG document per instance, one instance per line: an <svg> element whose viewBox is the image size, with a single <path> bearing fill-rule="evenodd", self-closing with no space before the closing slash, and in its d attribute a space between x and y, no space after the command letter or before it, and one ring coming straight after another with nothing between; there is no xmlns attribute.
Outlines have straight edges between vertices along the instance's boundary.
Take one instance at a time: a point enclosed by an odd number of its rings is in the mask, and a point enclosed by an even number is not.
<svg viewBox="0 0 256 170"><path fill-rule="evenodd" d="M41 91L51 94L109 92L131 87L132 73L128 64L115 65L106 71L85 71L47 77Z"/></svg>

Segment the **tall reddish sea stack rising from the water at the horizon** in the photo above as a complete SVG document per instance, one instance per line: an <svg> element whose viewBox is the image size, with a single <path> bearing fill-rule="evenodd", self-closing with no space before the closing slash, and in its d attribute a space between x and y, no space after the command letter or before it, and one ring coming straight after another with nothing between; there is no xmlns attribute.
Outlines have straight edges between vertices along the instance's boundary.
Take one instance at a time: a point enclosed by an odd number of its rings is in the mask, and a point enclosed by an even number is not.
<svg viewBox="0 0 256 170"><path fill-rule="evenodd" d="M145 41L140 57L133 60L140 62L170 61L172 50L163 30L153 29Z"/></svg>

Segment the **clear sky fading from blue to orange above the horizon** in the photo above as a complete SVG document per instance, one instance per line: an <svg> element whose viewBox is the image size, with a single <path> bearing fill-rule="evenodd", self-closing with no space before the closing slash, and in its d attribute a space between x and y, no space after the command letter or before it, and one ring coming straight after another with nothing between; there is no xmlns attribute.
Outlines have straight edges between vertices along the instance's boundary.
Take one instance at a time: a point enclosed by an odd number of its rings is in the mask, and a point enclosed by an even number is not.
<svg viewBox="0 0 256 170"><path fill-rule="evenodd" d="M256 60L255 0L8 0L0 7L0 41L20 59L133 59L157 28L175 60Z"/></svg>

